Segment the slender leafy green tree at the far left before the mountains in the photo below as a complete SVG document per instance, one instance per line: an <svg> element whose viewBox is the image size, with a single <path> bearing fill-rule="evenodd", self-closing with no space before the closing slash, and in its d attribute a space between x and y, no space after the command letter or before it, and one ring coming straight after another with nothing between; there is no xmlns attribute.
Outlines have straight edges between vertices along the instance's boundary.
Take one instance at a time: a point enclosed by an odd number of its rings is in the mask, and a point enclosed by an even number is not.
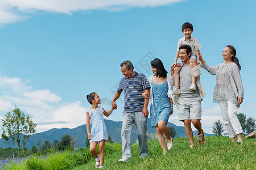
<svg viewBox="0 0 256 170"><path fill-rule="evenodd" d="M20 151L24 150L28 138L35 133L37 124L32 121L29 114L25 114L20 108L16 107L16 105L13 111L5 114L2 121L1 137L5 139L9 146L9 139L11 139L11 143L20 157ZM16 146L18 146L18 148L16 148Z"/></svg>

